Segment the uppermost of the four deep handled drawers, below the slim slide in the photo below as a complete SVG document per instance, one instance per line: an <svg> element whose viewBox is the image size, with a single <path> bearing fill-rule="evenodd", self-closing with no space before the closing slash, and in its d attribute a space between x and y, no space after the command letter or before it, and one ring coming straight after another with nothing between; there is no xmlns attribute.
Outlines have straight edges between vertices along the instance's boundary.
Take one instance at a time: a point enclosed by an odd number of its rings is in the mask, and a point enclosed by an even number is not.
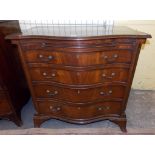
<svg viewBox="0 0 155 155"><path fill-rule="evenodd" d="M128 50L98 52L56 52L27 51L24 52L26 62L49 63L65 66L90 66L113 63L130 64L132 52Z"/></svg>

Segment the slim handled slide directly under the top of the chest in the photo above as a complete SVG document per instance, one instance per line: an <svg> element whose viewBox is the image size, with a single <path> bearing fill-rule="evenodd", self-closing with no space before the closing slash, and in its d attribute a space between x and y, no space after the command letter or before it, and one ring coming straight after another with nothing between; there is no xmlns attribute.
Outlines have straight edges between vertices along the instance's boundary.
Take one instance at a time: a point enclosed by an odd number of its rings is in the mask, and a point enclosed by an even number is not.
<svg viewBox="0 0 155 155"><path fill-rule="evenodd" d="M135 39L94 39L94 40L45 40L29 39L21 41L23 50L51 50L53 48L96 48L104 49L131 49Z"/></svg>

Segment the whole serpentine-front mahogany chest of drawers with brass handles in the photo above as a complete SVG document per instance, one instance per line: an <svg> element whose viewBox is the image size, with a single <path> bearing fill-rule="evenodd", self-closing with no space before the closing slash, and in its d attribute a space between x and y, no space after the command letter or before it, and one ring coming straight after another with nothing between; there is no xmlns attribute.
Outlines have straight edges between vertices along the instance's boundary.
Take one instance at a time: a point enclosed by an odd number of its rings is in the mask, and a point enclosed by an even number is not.
<svg viewBox="0 0 155 155"><path fill-rule="evenodd" d="M59 34L32 28L7 37L19 48L36 108L35 127L51 118L77 124L108 119L125 132L139 52L151 36L126 27L84 35L61 29Z"/></svg>

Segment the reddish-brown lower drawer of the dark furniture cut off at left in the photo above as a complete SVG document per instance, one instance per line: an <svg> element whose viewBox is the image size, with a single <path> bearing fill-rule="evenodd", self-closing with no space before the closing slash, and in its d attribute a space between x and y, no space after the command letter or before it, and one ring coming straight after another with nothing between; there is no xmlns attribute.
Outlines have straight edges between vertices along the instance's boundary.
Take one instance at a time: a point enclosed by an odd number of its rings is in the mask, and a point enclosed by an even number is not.
<svg viewBox="0 0 155 155"><path fill-rule="evenodd" d="M9 105L9 100L6 94L0 94L0 115L5 115L11 112L11 107Z"/></svg>

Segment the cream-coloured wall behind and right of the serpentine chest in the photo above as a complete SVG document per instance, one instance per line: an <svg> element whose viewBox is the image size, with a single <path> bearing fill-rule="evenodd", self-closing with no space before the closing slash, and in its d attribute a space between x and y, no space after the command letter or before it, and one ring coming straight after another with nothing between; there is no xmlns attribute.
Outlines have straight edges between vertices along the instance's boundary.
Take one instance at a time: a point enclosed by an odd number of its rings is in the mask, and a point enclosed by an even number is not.
<svg viewBox="0 0 155 155"><path fill-rule="evenodd" d="M115 25L128 26L152 35L141 49L132 87L155 90L155 20L115 21Z"/></svg>

